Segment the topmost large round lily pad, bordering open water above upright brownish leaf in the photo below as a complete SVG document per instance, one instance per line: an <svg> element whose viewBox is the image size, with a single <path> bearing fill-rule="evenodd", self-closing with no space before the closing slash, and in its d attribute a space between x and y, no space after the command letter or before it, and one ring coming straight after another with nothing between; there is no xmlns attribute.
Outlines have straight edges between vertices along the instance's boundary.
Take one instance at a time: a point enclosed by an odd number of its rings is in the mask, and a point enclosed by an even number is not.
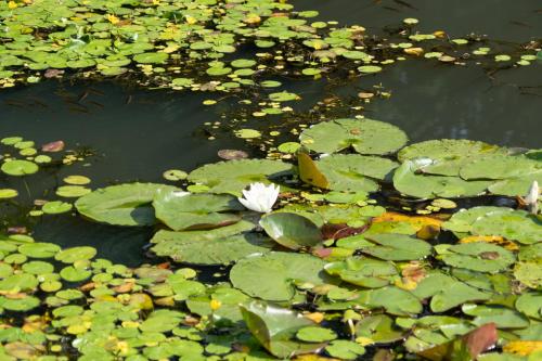
<svg viewBox="0 0 542 361"><path fill-rule="evenodd" d="M389 154L406 143L399 128L371 119L336 119L304 130L304 145L319 153L336 153L349 147L361 154Z"/></svg>

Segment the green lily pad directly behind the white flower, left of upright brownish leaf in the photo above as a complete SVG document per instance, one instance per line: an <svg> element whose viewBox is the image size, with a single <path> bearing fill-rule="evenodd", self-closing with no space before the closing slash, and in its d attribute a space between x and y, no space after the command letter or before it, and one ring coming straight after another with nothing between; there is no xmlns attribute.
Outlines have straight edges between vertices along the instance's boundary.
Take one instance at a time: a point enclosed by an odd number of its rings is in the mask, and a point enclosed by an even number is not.
<svg viewBox="0 0 542 361"><path fill-rule="evenodd" d="M264 184L270 180L289 175L292 165L279 160L238 159L205 165L189 175L189 181L204 184L212 193L230 193L236 196L254 182Z"/></svg>

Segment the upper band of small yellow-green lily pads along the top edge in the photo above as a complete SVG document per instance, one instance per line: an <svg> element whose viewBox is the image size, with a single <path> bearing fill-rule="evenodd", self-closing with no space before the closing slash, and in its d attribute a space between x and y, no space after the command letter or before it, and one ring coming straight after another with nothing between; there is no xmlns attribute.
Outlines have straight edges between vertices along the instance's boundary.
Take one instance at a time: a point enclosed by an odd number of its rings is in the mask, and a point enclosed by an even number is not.
<svg viewBox="0 0 542 361"><path fill-rule="evenodd" d="M0 87L63 75L133 74L153 87L228 92L280 87L270 75L365 75L422 55L506 66L542 56L535 44L500 53L482 37L420 34L414 18L391 39L377 39L362 26L314 21L317 11L295 11L279 0L2 0L0 16ZM296 99L286 91L269 94L279 104Z"/></svg>

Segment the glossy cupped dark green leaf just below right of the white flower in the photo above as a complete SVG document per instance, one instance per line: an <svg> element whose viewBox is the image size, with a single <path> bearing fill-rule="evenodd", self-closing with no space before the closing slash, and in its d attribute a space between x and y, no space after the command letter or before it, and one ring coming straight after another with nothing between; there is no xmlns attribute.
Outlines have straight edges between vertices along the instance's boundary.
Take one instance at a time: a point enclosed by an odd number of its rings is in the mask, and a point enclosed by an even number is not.
<svg viewBox="0 0 542 361"><path fill-rule="evenodd" d="M323 241L317 224L296 214L266 215L261 218L260 225L271 238L291 249L313 247Z"/></svg>

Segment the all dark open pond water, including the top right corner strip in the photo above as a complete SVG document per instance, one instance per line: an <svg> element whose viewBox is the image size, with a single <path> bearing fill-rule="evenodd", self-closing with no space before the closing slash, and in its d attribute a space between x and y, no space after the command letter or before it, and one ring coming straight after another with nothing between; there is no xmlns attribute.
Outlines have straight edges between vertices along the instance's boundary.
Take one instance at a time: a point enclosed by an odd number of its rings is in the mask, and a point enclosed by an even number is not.
<svg viewBox="0 0 542 361"><path fill-rule="evenodd" d="M537 11L542 9L540 1L295 0L293 3L319 10L320 18L361 24L372 33L382 34L387 26L399 26L404 17L416 17L421 20L421 31L443 29L456 37L474 31L506 41L542 37L542 12ZM525 24L519 25L518 21ZM391 98L367 104L365 116L399 126L412 141L468 138L540 147L540 64L488 75L481 66L413 60L336 86L333 91L356 96L357 92L375 85L391 92ZM325 96L323 81L289 80L285 88L302 94L298 108ZM68 149L88 147L96 155L88 159L88 165L81 163L59 172L40 171L28 177L29 195L21 180L0 176L0 188L21 190L17 201L22 202L21 205L0 203L3 222L0 230L8 223L31 223L39 241L62 246L90 244L102 257L131 266L140 263L144 260L141 247L149 242L153 230L102 225L67 215L46 216L33 222L26 217L30 201L51 198L47 192L60 185L67 175L88 176L92 188L136 180L163 181L162 172L166 169L190 171L219 160L220 149L247 151L246 144L231 133L207 140L203 125L222 120L223 106L231 107L231 104L202 105L207 98L211 96L127 89L111 82L44 81L2 90L0 138L21 136L38 144L62 139ZM295 140L294 137L291 140Z"/></svg>

